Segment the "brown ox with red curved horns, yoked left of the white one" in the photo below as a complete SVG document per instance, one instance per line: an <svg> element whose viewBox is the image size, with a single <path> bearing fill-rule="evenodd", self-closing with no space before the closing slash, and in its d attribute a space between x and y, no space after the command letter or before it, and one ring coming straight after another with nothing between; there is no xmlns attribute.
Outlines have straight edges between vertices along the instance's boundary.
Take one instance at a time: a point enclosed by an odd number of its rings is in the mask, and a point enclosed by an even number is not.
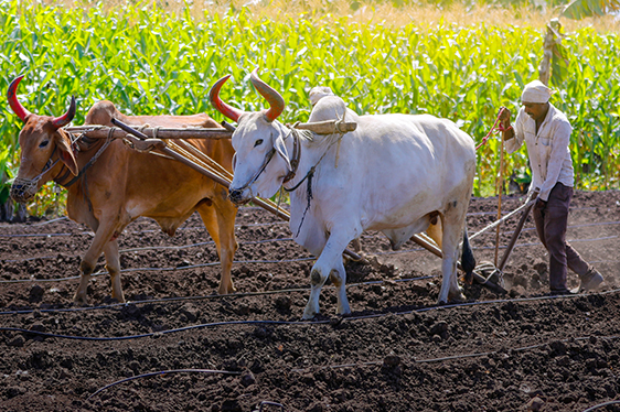
<svg viewBox="0 0 620 412"><path fill-rule="evenodd" d="M70 135L61 128L75 116L75 99L72 98L68 111L58 118L30 113L15 97L22 77L11 83L8 93L11 108L25 122L19 135L21 163L11 196L17 202L25 202L43 184L54 181L67 189L68 217L95 231L93 243L82 260L82 280L74 301L86 303L90 274L104 252L111 278L111 296L125 302L117 241L124 228L139 216L147 216L173 236L194 210L201 215L217 248L222 263L218 293L234 292L231 267L237 249L234 234L237 209L227 199L226 188L186 165L137 152L120 140L110 141L104 150L106 139L83 138L72 145ZM85 123L113 126L111 118L133 126L221 127L204 113L124 116L109 101L95 104L86 115ZM234 150L228 139L189 142L232 171ZM94 158L96 161L92 162Z"/></svg>

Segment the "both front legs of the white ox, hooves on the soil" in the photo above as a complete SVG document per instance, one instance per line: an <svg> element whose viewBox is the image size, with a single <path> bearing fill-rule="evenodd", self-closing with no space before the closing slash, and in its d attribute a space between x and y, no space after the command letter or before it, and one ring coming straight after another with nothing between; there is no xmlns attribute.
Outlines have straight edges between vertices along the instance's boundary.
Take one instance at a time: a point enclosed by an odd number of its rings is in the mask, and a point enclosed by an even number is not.
<svg viewBox="0 0 620 412"><path fill-rule="evenodd" d="M344 271L344 264L342 263L342 252L353 238L354 236L336 237L331 235L328 239L321 256L310 272L310 297L308 299L308 304L303 310L303 319L311 319L320 312L319 296L321 295L321 289L328 280L328 277L330 277L336 289L336 313L339 315L351 313L349 300L346 299L346 272Z"/></svg>

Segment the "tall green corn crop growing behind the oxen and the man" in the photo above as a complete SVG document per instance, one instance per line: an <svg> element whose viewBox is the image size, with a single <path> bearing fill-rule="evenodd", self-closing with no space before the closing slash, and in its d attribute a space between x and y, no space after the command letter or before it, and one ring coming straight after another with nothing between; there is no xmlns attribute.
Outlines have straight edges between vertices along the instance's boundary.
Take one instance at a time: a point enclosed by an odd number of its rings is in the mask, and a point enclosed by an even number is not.
<svg viewBox="0 0 620 412"><path fill-rule="evenodd" d="M224 12L189 6L169 12L156 6L104 9L103 2L73 8L0 0L0 89L25 74L19 99L40 115L63 113L74 95L75 124L97 100L114 101L128 115L222 116L207 91L232 74L222 97L244 110L265 101L249 73L280 90L282 122L304 121L308 91L329 86L360 113L431 113L457 122L477 143L501 106L514 113L524 84L537 78L544 33L527 26L440 23L393 26L350 15L271 19L247 8ZM619 188L620 51L617 32L582 28L564 39L568 74L550 86L552 102L574 127L570 151L576 187ZM0 204L19 167L21 121L0 99ZM498 139L478 151L474 195L495 194ZM505 156L506 175L527 180L525 148ZM49 186L29 212L42 215L56 196Z"/></svg>

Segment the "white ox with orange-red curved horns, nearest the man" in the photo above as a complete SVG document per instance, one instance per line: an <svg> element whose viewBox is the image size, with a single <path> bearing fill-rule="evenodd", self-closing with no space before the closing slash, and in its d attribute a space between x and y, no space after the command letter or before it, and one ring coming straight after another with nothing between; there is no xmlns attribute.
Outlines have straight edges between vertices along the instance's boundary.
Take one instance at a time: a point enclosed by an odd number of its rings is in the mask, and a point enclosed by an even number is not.
<svg viewBox="0 0 620 412"><path fill-rule="evenodd" d="M271 197L282 185L291 191L295 240L319 257L310 274L303 318L319 313L319 295L328 277L336 286L338 313L351 312L342 260L351 240L364 230L381 230L398 249L437 216L442 224L443 254L438 302L464 299L457 282L461 237L463 269L471 274L475 264L467 231L463 235L475 172L471 137L453 122L428 115L357 116L336 96L322 97L309 122L344 118L356 122L356 130L299 135L276 120L284 99L256 71L250 79L268 100L268 110L244 112L223 102L220 89L228 77L212 87L210 97L217 110L238 122L229 198L242 204L256 196Z"/></svg>

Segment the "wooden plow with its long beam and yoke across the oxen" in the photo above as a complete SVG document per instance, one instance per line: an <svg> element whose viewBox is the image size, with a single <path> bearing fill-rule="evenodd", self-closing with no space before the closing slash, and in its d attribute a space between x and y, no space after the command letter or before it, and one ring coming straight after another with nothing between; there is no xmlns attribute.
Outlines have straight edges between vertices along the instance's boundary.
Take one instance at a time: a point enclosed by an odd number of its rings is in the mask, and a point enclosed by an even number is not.
<svg viewBox="0 0 620 412"><path fill-rule="evenodd" d="M65 131L72 134L83 134L88 138L94 139L122 139L126 144L130 145L132 149L141 152L152 152L153 154L165 155L170 159L174 159L189 167L206 175L222 186L228 188L233 182L233 174L215 162L213 159L207 156L205 153L197 150L190 142L184 141L185 139L231 139L235 128L223 121L222 126L224 129L207 129L207 128L150 128L150 127L135 127L122 123L117 119L113 119L113 123L116 128L104 127L104 126L81 126L81 127L67 127L64 128ZM356 128L354 122L336 122L336 121L323 121L316 123L296 123L296 128L311 130L319 134L329 134L336 132L348 132L353 131ZM171 141L171 139L175 141ZM506 293L503 288L503 269L510 258L516 239L519 238L523 225L534 205L535 198L527 198L527 200L517 209L507 214L503 218L494 221L488 227L483 228L479 232L472 235L470 240L478 237L482 232L498 227L502 221L511 218L519 212L523 210L521 219L517 224L516 230L509 242L507 249L504 252L500 263L495 267L491 262L484 262L478 265L473 271L473 280L477 283L482 284L494 293L504 294ZM290 220L290 214L278 207L270 199L255 197L253 199L257 206L264 208L265 210L276 215L285 221ZM411 240L425 248L432 254L441 258L441 249L430 239L426 234L418 234L411 237ZM354 261L367 261L360 254L345 249L343 254ZM457 263L459 269L462 269L460 262Z"/></svg>

